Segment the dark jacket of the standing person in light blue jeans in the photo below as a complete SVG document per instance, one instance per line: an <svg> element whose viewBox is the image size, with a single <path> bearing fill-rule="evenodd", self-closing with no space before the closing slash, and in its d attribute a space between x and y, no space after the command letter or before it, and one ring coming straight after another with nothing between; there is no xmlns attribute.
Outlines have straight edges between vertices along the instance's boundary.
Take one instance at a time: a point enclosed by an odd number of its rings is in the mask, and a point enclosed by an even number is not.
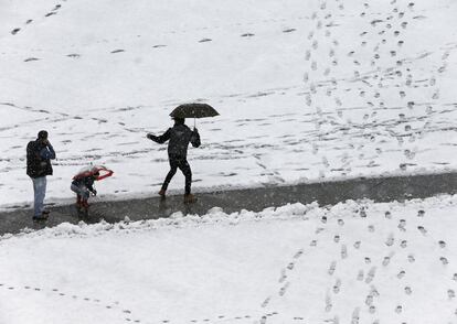
<svg viewBox="0 0 457 324"><path fill-rule="evenodd" d="M52 145L45 145L40 141L31 141L26 145L26 174L30 177L52 175L51 160L55 159Z"/></svg>

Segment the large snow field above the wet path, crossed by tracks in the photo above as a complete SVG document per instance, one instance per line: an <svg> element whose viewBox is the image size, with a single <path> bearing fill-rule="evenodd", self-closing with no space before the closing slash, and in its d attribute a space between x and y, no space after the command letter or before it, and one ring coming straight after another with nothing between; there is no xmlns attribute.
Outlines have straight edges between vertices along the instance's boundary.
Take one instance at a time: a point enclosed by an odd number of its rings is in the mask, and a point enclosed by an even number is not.
<svg viewBox="0 0 457 324"><path fill-rule="evenodd" d="M196 191L455 171L455 0L0 0L0 205L32 199L25 145L57 152L47 202L89 163L102 198L155 195L161 133L198 120ZM188 120L193 126L193 120ZM183 190L178 174L170 188Z"/></svg>

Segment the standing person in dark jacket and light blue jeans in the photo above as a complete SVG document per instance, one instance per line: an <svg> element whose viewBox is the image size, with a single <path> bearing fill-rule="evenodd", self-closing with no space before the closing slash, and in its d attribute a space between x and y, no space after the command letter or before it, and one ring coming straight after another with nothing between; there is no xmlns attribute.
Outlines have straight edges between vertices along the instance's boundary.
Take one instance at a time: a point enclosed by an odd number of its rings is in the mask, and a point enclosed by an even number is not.
<svg viewBox="0 0 457 324"><path fill-rule="evenodd" d="M46 175L52 175L51 160L55 151L47 140L47 131L41 130L34 141L26 145L26 174L33 182L33 219L46 219L50 212L44 209Z"/></svg>

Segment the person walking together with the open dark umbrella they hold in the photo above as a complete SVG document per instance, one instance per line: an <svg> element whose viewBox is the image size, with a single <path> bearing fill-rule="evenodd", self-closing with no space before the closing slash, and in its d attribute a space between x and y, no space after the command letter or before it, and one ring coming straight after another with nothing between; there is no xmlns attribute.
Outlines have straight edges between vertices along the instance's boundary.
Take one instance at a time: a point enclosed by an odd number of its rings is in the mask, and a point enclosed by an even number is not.
<svg viewBox="0 0 457 324"><path fill-rule="evenodd" d="M219 115L211 106L206 104L187 104L178 106L170 116L174 120L174 126L169 128L163 134L157 137L148 133L146 137L157 143L168 143L168 158L170 162L170 171L168 172L159 195L164 198L168 185L177 173L178 169L185 176L184 203L194 203L195 196L191 194L192 171L188 162L189 143L194 148L199 148L200 134L195 126L191 130L184 122L185 118L202 118Z"/></svg>

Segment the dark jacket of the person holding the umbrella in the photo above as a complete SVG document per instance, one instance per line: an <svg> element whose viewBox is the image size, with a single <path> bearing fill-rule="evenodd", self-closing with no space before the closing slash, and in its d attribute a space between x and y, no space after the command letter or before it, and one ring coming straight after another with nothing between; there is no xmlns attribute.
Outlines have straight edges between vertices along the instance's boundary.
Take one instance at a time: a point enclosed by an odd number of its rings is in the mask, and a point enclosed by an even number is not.
<svg viewBox="0 0 457 324"><path fill-rule="evenodd" d="M185 159L188 156L189 143L194 148L200 147L200 134L196 129L192 131L183 123L174 125L160 137L149 136L149 138L157 143L164 143L170 140L168 143L169 156L180 156Z"/></svg>

